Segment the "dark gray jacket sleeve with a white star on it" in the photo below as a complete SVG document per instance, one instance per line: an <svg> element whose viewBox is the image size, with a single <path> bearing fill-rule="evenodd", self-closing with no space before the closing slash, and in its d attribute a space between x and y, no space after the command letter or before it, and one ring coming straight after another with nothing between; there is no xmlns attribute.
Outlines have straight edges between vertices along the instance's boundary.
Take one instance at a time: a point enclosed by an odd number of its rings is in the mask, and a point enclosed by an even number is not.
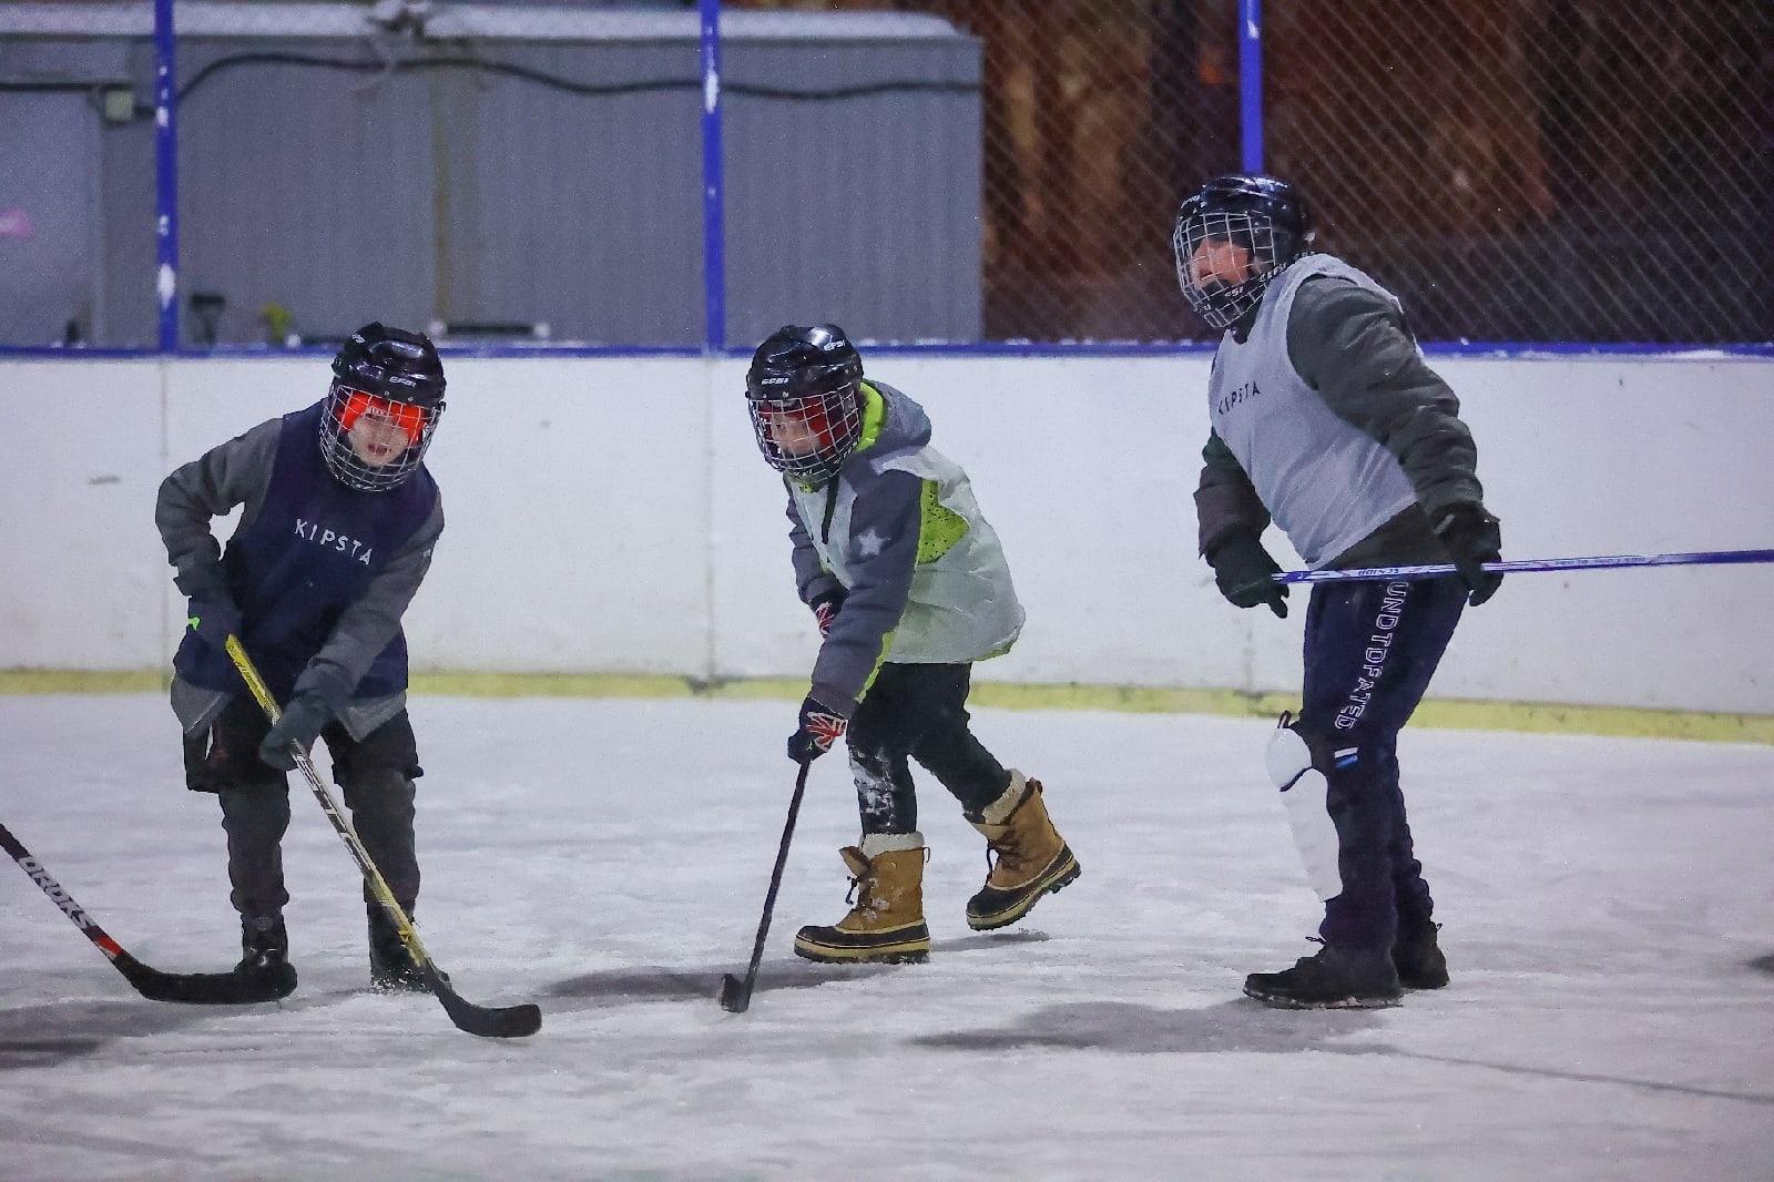
<svg viewBox="0 0 1774 1182"><path fill-rule="evenodd" d="M844 715L875 680L912 596L924 481L889 469L866 477L850 511L850 598L812 666L812 697Z"/></svg>

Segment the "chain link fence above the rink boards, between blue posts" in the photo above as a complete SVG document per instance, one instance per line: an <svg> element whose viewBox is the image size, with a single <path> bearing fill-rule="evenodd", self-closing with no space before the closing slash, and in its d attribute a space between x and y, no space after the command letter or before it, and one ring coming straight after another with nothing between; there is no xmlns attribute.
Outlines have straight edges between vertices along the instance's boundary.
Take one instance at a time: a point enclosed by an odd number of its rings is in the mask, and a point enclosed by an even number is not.
<svg viewBox="0 0 1774 1182"><path fill-rule="evenodd" d="M39 112L28 128L0 119L0 146L39 160L0 170L0 257L60 282L75 309L51 316L60 289L20 284L0 300L0 344L64 319L69 341L87 325L90 343L145 344L142 5L5 7L87 16L82 37L0 37L0 103ZM695 7L179 5L181 286L197 295L206 266L234 275L241 259L263 272L231 280L225 314L208 293L188 307L186 343L280 339L266 309L286 303L337 330L355 323L328 307L337 291L415 323L706 343ZM224 9L232 41L218 39ZM724 9L773 12L788 30L724 50L731 341L816 309L891 339L1212 335L1176 289L1169 236L1183 195L1242 170L1242 119L1258 112L1240 110L1238 0ZM848 48L795 48L795 20L837 12L940 18L949 44L899 30L887 48L864 28ZM248 41L271 32L279 53ZM1263 170L1302 188L1318 247L1400 295L1419 339L1774 339L1769 0L1267 0L1261 46ZM351 138L397 119L417 119L396 140L412 160ZM250 149L254 167L224 169L220 147ZM889 165L892 199L867 169L841 172L862 158L903 162ZM351 185L364 199L341 204ZM59 195L85 192L101 197ZM254 209L259 222L241 218ZM279 240L254 245L257 225ZM90 241L105 243L98 263ZM598 300L617 272L633 275L612 311ZM20 332L27 316L43 325Z"/></svg>

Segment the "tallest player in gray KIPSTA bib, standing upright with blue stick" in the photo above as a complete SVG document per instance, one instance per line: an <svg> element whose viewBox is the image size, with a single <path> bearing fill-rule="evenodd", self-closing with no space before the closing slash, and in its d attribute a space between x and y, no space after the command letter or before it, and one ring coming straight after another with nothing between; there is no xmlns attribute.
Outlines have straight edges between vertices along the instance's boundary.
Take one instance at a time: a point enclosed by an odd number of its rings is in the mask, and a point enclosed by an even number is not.
<svg viewBox="0 0 1774 1182"><path fill-rule="evenodd" d="M1306 607L1300 717L1268 749L1323 948L1252 973L1272 1006L1384 1006L1448 983L1405 797L1398 731L1460 612L1503 575L1460 399L1428 366L1398 300L1329 254L1291 185L1224 176L1183 202L1173 247L1183 295L1224 337L1208 380L1213 429L1196 490L1201 554L1238 607L1286 616L1270 515L1313 568L1448 563L1417 582L1322 582Z"/></svg>

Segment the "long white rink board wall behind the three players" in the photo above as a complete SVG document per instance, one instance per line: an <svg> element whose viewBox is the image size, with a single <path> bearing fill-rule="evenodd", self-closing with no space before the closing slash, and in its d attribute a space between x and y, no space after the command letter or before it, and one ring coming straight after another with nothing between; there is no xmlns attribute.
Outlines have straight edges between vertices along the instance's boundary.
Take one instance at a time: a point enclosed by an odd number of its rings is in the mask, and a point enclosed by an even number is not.
<svg viewBox="0 0 1774 1182"><path fill-rule="evenodd" d="M1506 557L1774 547L1774 362L1432 357L1464 401ZM408 614L422 669L795 676L782 495L738 359L445 357L449 529ZM981 680L1288 690L1295 612L1236 612L1196 557L1208 355L867 353L935 419L1029 626ZM165 472L319 398L325 357L0 360L0 667L153 669L183 603ZM1276 531L1277 559L1293 566ZM1432 694L1774 713L1769 566L1517 575Z"/></svg>

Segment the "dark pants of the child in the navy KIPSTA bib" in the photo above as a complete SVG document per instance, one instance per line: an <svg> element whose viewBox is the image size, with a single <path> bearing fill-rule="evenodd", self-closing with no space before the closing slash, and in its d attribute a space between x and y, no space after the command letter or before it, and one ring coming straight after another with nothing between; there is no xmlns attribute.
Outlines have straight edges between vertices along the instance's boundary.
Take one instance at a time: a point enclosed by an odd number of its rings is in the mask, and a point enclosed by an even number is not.
<svg viewBox="0 0 1774 1182"><path fill-rule="evenodd" d="M284 831L289 827L289 779L259 760L259 742L270 724L247 694L231 701L209 731L184 737L184 777L195 792L222 800L227 834L227 873L234 910L241 916L277 916L284 889ZM389 884L396 902L413 910L419 900L419 855L413 843L413 781L424 772L413 724L406 712L362 740L334 722L321 731L332 753L332 774L351 809L351 827ZM369 886L364 902L380 912Z"/></svg>

